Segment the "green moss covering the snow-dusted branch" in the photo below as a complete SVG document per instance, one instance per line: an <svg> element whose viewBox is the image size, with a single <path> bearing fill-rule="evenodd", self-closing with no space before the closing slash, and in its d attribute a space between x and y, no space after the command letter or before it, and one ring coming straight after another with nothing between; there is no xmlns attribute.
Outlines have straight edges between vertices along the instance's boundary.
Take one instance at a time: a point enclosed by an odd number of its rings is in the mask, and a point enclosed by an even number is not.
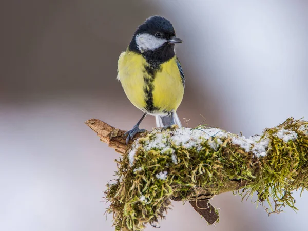
<svg viewBox="0 0 308 231"><path fill-rule="evenodd" d="M296 132L296 136L279 138L283 129ZM177 130L162 134L154 130L136 141L132 166L129 156L134 152L118 161L118 179L105 191L116 230L142 230L147 223L160 221L172 198L187 201L239 187L243 198L257 192L268 213L279 213L286 206L296 209L292 191L308 186L308 122L290 118L265 129L262 138L269 139L269 146L264 157L234 144L235 134L223 131L219 138L204 134L198 143L187 147L175 142ZM159 144L151 145L157 136L163 137L163 150ZM158 179L156 175L164 171L166 179ZM268 208L264 202L269 202Z"/></svg>

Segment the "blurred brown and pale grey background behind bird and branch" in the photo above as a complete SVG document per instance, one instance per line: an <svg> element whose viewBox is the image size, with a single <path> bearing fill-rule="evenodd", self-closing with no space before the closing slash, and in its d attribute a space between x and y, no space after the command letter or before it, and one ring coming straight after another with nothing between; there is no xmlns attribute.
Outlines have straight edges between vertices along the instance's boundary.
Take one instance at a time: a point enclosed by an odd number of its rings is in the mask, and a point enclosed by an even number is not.
<svg viewBox="0 0 308 231"><path fill-rule="evenodd" d="M251 136L287 117L308 117L307 1L0 6L0 230L114 230L101 200L119 155L84 121L130 129L141 117L115 77L120 53L151 15L167 17L184 40L176 47L186 76L178 114L189 127L207 123ZM147 117L141 127L153 126ZM270 217L240 196L219 195L215 226L174 202L160 230L307 230L308 193L294 195L297 213L286 208Z"/></svg>

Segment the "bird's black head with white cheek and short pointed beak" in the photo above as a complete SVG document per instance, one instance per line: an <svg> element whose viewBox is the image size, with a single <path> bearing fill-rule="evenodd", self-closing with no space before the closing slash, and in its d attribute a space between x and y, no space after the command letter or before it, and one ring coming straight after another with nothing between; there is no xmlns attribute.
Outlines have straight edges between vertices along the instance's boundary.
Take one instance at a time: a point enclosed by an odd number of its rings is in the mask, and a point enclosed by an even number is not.
<svg viewBox="0 0 308 231"><path fill-rule="evenodd" d="M152 16L141 24L132 38L130 48L140 53L157 50L174 50L175 43L183 41L176 37L175 29L164 17Z"/></svg>

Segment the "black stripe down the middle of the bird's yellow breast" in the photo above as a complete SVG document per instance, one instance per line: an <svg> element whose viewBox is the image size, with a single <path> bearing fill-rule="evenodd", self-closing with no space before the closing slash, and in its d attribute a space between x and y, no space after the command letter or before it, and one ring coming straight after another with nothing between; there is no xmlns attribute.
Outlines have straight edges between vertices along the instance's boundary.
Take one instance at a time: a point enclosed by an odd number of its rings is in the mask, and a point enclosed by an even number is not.
<svg viewBox="0 0 308 231"><path fill-rule="evenodd" d="M160 65L144 65L144 93L145 93L145 102L146 102L146 111L148 112L154 112L158 111L159 108L154 106L153 103L153 90L154 85L153 81L155 79L155 75L158 71L161 71Z"/></svg>

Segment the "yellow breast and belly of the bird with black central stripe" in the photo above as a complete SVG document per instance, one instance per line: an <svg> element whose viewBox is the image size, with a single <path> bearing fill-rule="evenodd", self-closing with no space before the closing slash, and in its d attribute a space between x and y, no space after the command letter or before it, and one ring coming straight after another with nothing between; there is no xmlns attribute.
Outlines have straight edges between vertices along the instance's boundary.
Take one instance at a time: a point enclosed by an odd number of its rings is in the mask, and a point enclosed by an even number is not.
<svg viewBox="0 0 308 231"><path fill-rule="evenodd" d="M166 114L176 110L183 98L184 86L176 57L149 71L146 60L126 51L118 61L118 76L131 103L149 114Z"/></svg>

